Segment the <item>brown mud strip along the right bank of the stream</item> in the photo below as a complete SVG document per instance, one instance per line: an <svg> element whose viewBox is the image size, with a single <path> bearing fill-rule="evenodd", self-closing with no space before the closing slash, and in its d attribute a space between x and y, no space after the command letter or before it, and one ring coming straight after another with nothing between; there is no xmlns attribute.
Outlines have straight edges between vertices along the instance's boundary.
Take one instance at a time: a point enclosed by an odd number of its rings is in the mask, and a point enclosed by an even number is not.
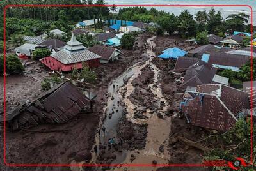
<svg viewBox="0 0 256 171"><path fill-rule="evenodd" d="M179 44L176 46L174 41L178 41ZM165 37L157 37L155 40L156 48L154 48L154 52L156 54L161 54L165 48L179 47L184 50L191 50L195 48L193 45L186 45L180 38L175 38L175 36L165 36ZM198 130L198 128L193 128L189 124L186 123L186 119L179 118L174 116L179 112L179 104L182 100L182 94L179 94L178 91L178 83L175 82L175 75L172 73L172 69L175 66L174 60L166 60L156 58L154 59L154 63L161 70L161 88L163 91L163 96L168 100L170 104L170 114L172 115L171 122L172 126L170 129L170 138L169 138L169 152L170 152L170 164L175 163L202 163L204 152L195 149L195 147L190 147L184 142L177 140L178 135L181 137L186 137L189 140L194 140L195 142L204 138L207 134L204 130ZM157 169L158 171L165 170L208 170L209 168L204 167L162 167Z"/></svg>

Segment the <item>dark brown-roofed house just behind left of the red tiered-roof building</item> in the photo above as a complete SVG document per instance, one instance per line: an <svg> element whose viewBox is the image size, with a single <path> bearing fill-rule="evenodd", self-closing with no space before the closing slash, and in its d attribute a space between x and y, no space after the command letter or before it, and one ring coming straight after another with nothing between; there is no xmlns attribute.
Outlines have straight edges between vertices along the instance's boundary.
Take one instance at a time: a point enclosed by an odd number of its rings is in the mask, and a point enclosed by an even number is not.
<svg viewBox="0 0 256 171"><path fill-rule="evenodd" d="M45 46L49 48L51 52L57 52L63 49L63 47L66 45L64 41L58 40L58 39L48 39L43 41L42 43L38 44L40 46Z"/></svg>

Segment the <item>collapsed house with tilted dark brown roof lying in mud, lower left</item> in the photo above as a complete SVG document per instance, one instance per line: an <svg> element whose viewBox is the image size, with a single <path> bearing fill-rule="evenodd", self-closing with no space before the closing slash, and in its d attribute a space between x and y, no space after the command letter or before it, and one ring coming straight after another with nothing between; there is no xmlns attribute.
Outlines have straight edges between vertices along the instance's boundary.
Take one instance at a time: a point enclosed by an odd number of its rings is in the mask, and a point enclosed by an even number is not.
<svg viewBox="0 0 256 171"><path fill-rule="evenodd" d="M71 82L63 82L31 102L6 112L7 126L19 130L24 126L65 123L80 113L92 112L92 103ZM0 122L4 121L3 115Z"/></svg>

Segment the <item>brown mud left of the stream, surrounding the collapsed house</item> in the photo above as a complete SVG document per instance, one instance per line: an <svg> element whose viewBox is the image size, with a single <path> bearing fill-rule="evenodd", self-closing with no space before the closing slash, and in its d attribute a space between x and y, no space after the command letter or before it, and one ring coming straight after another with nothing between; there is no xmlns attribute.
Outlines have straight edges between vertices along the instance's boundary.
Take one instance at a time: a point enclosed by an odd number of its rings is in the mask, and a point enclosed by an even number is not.
<svg viewBox="0 0 256 171"><path fill-rule="evenodd" d="M136 38L134 50L122 50L119 61L95 68L97 83L87 85L98 96L93 103L93 113L77 115L65 124L41 125L17 132L6 132L8 163L79 163L90 161L92 145L100 116L106 103L108 84L128 66L143 58L142 50L148 36ZM41 80L49 70L39 63L26 67L26 76L8 76L6 79L7 105L16 107L20 100L33 99L42 93ZM28 74L27 74L28 73ZM0 78L3 85L3 77ZM2 86L3 87L3 86ZM87 87L87 88L88 88ZM3 95L3 89L0 92ZM1 99L3 101L3 98ZM3 104L1 104L3 108ZM9 109L9 108L8 108ZM1 129L1 131L3 131ZM1 148L3 154L3 148ZM2 156L3 157L3 156ZM3 158L1 158L1 161ZM1 165L2 170L6 169ZM73 170L70 167L10 167L9 170Z"/></svg>

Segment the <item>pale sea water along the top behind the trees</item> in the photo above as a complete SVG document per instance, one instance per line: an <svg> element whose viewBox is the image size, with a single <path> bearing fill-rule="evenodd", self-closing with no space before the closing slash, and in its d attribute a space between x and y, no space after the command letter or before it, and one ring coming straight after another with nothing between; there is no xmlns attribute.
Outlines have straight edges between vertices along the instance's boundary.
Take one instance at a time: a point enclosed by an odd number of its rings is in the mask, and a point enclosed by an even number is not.
<svg viewBox="0 0 256 171"><path fill-rule="evenodd" d="M237 4L237 5L250 5L253 9L253 25L256 26L256 0L182 0L182 1L171 1L171 0L106 0L106 3L108 4L206 4L206 5L221 5L221 4ZM120 7L123 8L123 7ZM146 7L147 9L150 9L151 7ZM157 10L164 10L170 13L174 13L175 15L180 15L180 13L184 10L189 10L189 12L193 15L197 11L211 10L211 6L207 7L154 7ZM216 11L220 11L223 18L225 19L228 15L233 13L246 13L250 15L251 11L248 7L225 7L225 6L218 6L214 7ZM249 21L250 22L250 21Z"/></svg>

